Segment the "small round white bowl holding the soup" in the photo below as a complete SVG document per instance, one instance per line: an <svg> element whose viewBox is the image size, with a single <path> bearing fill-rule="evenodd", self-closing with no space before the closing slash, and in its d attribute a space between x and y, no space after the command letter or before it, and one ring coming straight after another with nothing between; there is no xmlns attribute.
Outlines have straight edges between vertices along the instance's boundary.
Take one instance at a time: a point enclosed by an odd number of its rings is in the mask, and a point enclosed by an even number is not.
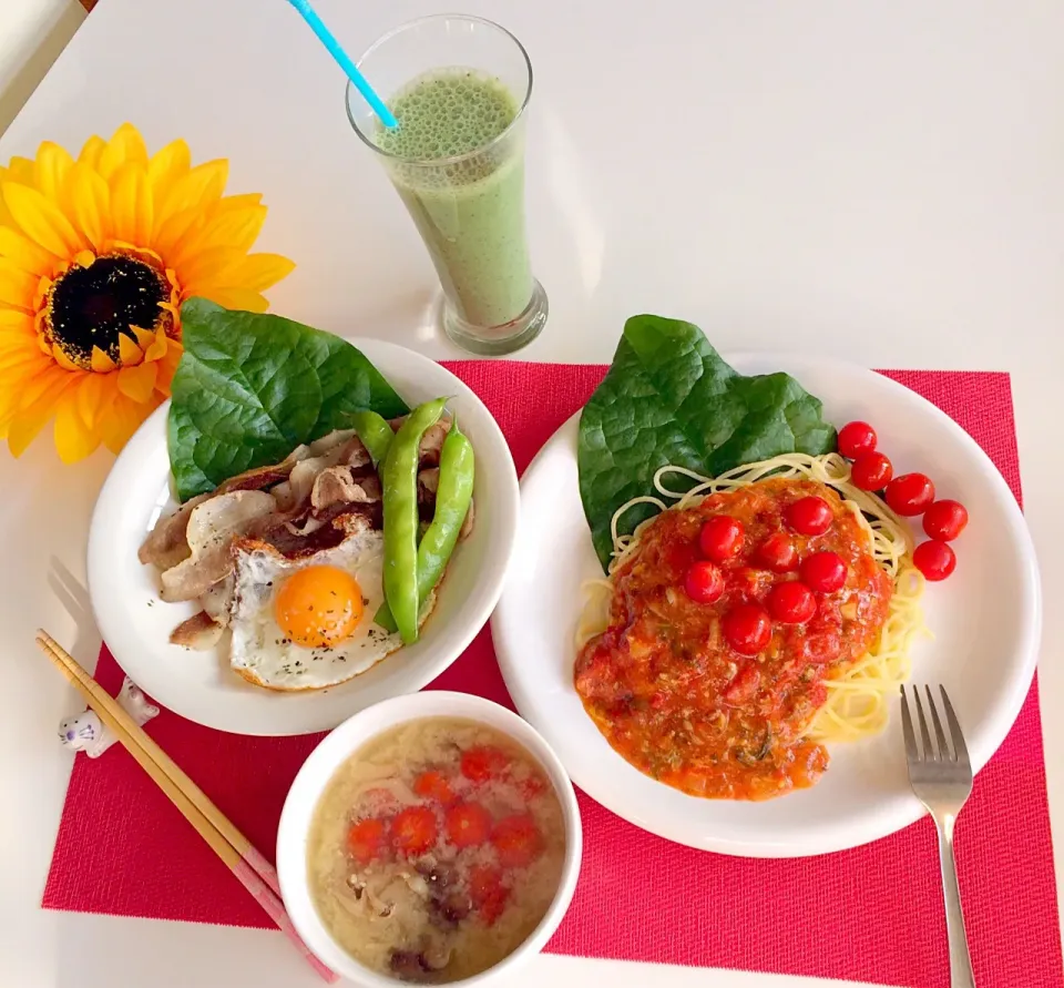
<svg viewBox="0 0 1064 988"><path fill-rule="evenodd" d="M396 988L403 984L398 978L376 974L350 956L321 923L310 898L307 884L307 834L321 793L340 765L370 739L389 727L422 717L464 717L501 731L524 747L546 773L562 804L565 823L565 859L557 892L540 925L513 953L494 967L452 986L497 984L511 975L515 967L533 957L557 929L569 908L580 874L583 846L580 811L573 785L557 755L540 734L516 714L505 707L468 693L447 693L430 690L409 696L397 696L370 706L345 721L326 737L304 762L296 776L277 831L277 874L280 894L293 924L304 943L330 968L367 988Z"/></svg>

